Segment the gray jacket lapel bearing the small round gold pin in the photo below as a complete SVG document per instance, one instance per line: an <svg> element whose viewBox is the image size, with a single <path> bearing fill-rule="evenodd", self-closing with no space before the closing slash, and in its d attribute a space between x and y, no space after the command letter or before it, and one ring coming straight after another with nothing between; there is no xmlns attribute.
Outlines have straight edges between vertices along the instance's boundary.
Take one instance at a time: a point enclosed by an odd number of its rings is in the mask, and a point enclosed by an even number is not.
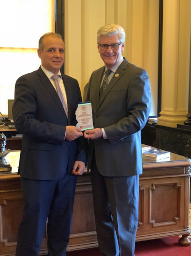
<svg viewBox="0 0 191 256"><path fill-rule="evenodd" d="M126 59L124 59L124 61L121 63L121 65L118 67L117 71L113 75L107 88L105 89L104 94L99 102L98 107L100 106L100 104L102 104L102 102L104 101L107 94L110 92L110 90L113 88L113 86L118 82L118 80L121 78L121 76L123 76L123 74L125 73L125 70L127 68L127 65L128 65L128 61Z"/></svg>

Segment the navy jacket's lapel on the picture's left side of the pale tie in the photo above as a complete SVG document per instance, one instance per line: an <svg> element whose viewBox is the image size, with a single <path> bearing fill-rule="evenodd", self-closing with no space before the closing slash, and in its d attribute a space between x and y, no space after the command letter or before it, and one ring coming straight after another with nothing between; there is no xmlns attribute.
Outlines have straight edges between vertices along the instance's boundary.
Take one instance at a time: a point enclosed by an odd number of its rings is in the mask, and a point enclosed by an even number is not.
<svg viewBox="0 0 191 256"><path fill-rule="evenodd" d="M58 108L60 109L60 111L62 112L63 116L65 117L66 121L68 121L68 118L66 116L65 110L62 106L62 103L60 101L60 98L57 94L57 92L55 91L52 83L50 82L49 78L47 78L47 76L45 75L45 73L42 71L41 68L39 68L37 70L37 74L40 77L40 81L41 83L45 86L45 88L49 91L51 97L53 98L53 100L55 101L55 103L57 104Z"/></svg>

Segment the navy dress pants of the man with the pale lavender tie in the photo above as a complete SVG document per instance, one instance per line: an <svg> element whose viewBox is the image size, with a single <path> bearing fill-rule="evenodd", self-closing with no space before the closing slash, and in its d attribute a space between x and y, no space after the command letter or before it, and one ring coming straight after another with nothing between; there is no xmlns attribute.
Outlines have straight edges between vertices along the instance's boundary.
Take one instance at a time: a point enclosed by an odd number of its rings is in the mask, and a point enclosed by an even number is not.
<svg viewBox="0 0 191 256"><path fill-rule="evenodd" d="M38 256L47 222L48 255L65 256L69 241L76 176L59 180L21 178L24 197L16 256Z"/></svg>

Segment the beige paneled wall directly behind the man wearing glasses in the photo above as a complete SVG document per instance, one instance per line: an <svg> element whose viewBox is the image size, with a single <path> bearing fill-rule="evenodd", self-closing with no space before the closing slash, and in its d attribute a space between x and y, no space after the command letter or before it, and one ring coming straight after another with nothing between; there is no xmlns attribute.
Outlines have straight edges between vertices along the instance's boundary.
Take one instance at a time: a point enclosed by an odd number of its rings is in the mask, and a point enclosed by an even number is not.
<svg viewBox="0 0 191 256"><path fill-rule="evenodd" d="M79 81L83 92L92 71L104 65L96 35L108 23L125 29L123 57L148 72L151 115L157 114L159 0L65 0L65 73Z"/></svg>

